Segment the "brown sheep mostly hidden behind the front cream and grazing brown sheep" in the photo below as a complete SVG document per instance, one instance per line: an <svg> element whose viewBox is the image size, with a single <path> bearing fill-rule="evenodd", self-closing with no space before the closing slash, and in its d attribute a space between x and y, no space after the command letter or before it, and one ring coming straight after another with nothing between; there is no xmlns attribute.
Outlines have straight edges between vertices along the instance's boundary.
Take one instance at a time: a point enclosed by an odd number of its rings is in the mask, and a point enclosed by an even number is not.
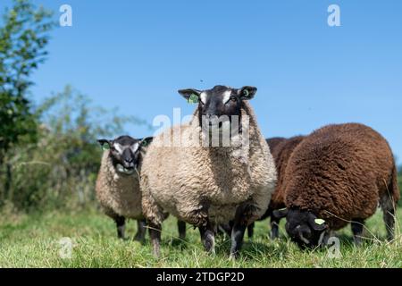
<svg viewBox="0 0 402 286"><path fill-rule="evenodd" d="M272 240L278 238L279 236L279 223L281 218L277 218L272 215L272 212L277 209L285 207L285 194L284 194L284 184L285 181L283 177L285 175L286 165L288 164L289 157L292 155L293 150L297 145L304 139L304 136L295 136L289 139L284 138L272 138L266 139L268 146L271 148L271 153L275 161L276 172L278 174L278 182L274 192L272 193L272 198L270 205L268 206L265 214L259 219L259 221L264 220L267 217L271 218L271 238ZM251 223L247 227L248 237L253 238L255 223Z"/></svg>

